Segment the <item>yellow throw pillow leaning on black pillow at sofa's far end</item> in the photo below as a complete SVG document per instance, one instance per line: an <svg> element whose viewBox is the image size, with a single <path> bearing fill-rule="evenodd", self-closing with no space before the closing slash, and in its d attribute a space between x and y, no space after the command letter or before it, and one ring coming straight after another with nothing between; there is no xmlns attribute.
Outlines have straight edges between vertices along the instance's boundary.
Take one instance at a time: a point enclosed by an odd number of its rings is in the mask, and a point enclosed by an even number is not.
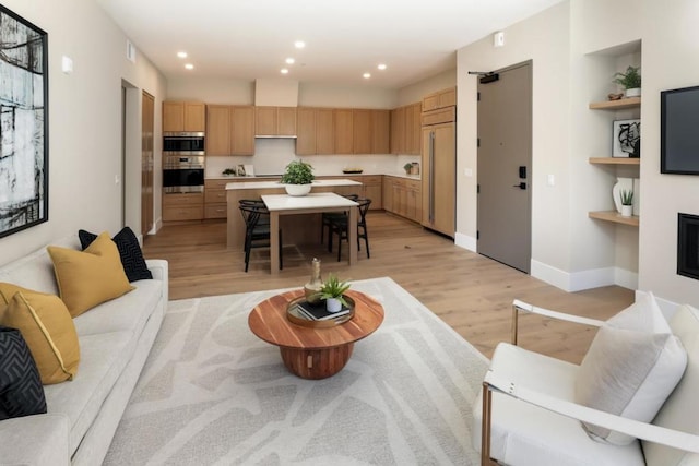
<svg viewBox="0 0 699 466"><path fill-rule="evenodd" d="M119 250L108 232L87 249L47 248L61 299L73 318L134 289L127 279Z"/></svg>

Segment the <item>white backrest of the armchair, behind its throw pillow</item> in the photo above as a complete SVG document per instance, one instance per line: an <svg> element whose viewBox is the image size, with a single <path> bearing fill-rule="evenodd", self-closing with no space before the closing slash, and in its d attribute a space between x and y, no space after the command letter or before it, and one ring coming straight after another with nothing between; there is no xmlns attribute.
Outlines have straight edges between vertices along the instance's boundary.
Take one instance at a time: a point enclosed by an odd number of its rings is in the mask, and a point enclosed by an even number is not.
<svg viewBox="0 0 699 466"><path fill-rule="evenodd" d="M680 306L670 320L670 327L687 351L685 373L660 409L653 423L699 435L699 310ZM676 466L699 464L699 455L642 442L645 464ZM697 462L697 463L694 463Z"/></svg>

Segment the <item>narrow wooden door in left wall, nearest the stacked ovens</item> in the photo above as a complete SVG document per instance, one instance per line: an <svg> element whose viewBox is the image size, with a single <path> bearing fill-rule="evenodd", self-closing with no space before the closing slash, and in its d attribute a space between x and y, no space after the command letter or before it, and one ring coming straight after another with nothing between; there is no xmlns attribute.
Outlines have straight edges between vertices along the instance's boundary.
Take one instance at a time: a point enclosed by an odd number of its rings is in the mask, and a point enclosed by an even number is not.
<svg viewBox="0 0 699 466"><path fill-rule="evenodd" d="M155 129L155 101L143 92L141 107L141 235L153 229L153 132Z"/></svg>

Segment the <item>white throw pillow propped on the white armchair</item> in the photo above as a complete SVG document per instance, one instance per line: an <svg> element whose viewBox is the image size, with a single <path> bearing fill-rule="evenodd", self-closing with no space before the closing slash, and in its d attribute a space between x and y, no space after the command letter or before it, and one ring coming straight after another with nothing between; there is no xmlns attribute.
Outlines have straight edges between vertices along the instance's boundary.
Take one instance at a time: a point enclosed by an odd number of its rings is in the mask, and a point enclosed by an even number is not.
<svg viewBox="0 0 699 466"><path fill-rule="evenodd" d="M651 292L600 327L576 378L576 402L650 422L679 382L687 354ZM595 440L627 445L632 437L583 422Z"/></svg>

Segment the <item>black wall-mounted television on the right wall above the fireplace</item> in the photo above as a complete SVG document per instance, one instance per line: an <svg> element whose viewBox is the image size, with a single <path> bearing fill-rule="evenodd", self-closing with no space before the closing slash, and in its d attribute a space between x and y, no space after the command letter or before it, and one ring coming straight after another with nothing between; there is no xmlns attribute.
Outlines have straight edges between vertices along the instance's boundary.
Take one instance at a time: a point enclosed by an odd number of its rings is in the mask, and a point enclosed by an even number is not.
<svg viewBox="0 0 699 466"><path fill-rule="evenodd" d="M699 175L699 86L660 93L660 172Z"/></svg>

